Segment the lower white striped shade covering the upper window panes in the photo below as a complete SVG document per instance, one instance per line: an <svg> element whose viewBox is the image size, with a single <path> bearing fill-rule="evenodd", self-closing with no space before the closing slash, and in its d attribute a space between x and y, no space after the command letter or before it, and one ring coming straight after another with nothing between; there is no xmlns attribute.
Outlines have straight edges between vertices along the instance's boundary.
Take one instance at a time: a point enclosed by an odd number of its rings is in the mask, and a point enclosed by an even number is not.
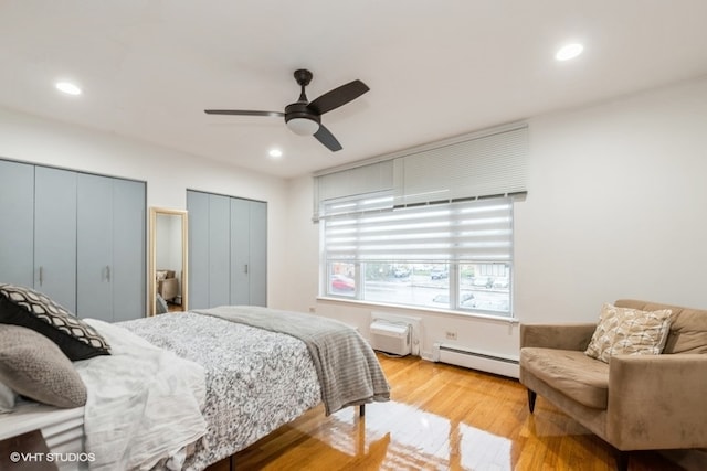
<svg viewBox="0 0 707 471"><path fill-rule="evenodd" d="M349 199L349 208L362 210L367 200ZM345 212L341 201L326 206L329 216L324 220L324 253L329 263L511 261L509 197L382 211Z"/></svg>

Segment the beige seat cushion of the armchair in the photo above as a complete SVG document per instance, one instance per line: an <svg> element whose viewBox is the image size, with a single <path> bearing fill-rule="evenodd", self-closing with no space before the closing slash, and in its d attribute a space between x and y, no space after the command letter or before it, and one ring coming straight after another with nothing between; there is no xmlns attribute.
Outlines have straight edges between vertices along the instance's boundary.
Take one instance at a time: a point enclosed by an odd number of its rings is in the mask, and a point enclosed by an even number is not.
<svg viewBox="0 0 707 471"><path fill-rule="evenodd" d="M520 350L520 367L588 407L606 408L609 364L584 352L527 346Z"/></svg>

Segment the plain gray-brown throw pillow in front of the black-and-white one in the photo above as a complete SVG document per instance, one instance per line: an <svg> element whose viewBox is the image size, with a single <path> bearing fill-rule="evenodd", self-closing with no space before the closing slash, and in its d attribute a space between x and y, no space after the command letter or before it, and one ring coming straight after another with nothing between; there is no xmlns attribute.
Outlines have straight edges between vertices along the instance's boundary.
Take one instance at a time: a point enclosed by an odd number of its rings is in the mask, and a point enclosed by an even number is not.
<svg viewBox="0 0 707 471"><path fill-rule="evenodd" d="M44 335L20 325L0 324L0 381L50 406L86 404L86 386L66 355Z"/></svg>

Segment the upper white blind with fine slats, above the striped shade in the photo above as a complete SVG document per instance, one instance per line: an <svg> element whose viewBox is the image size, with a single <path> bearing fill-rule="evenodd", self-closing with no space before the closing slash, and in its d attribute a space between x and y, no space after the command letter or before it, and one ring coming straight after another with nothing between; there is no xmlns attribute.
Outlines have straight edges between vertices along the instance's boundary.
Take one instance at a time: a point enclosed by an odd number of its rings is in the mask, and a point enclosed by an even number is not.
<svg viewBox="0 0 707 471"><path fill-rule="evenodd" d="M315 176L314 220L327 202L392 191L392 205L526 192L528 128L508 125L377 158ZM324 211L324 213L321 213Z"/></svg>

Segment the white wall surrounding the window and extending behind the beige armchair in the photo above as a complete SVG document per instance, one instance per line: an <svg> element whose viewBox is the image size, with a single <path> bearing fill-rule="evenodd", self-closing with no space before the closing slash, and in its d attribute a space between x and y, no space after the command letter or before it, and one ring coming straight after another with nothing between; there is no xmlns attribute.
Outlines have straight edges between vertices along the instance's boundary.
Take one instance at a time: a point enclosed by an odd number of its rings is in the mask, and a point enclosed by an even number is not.
<svg viewBox="0 0 707 471"><path fill-rule="evenodd" d="M639 298L707 308L707 81L528 120L528 197L515 211L514 310L523 322L594 321L602 302ZM423 319L429 355L457 343L517 355L518 325L317 300L312 179L291 182L287 306L358 325L370 312Z"/></svg>

